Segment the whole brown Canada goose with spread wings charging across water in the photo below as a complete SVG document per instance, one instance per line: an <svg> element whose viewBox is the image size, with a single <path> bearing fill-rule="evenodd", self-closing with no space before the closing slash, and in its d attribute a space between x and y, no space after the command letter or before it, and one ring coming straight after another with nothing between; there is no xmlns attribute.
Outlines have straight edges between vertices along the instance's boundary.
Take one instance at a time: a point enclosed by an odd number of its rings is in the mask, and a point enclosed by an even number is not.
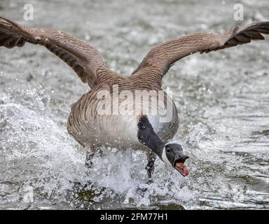
<svg viewBox="0 0 269 224"><path fill-rule="evenodd" d="M269 22L235 27L225 34L199 32L181 36L156 45L132 75L125 77L109 70L95 48L69 34L55 29L22 27L0 18L0 46L22 47L26 42L43 45L71 66L83 83L90 86L91 90L71 107L67 123L69 134L88 148L86 165L91 167L92 156L102 146L140 148L147 153L149 179L156 155L183 176L188 175L184 165L188 156L184 155L179 144L167 144L179 127L174 102L163 93L164 106L156 107L158 102L146 99L146 92L151 91L151 99L160 99L158 92L162 91L163 76L182 57L263 40L261 34L269 34ZM137 90L142 90L139 94L140 99L145 98L143 104L134 101L133 96L128 98L128 94L137 94ZM122 92L124 94L120 95ZM134 113L137 106L141 107ZM151 112L144 112L146 107ZM161 121L160 118L167 113L170 113L170 119Z"/></svg>

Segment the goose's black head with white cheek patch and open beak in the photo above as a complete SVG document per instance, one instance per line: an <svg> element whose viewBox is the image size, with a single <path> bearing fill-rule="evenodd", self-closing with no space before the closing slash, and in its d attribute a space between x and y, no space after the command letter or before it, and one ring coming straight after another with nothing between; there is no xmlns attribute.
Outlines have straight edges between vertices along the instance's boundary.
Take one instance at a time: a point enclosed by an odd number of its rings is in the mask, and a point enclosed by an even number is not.
<svg viewBox="0 0 269 224"><path fill-rule="evenodd" d="M160 158L167 165L172 165L182 176L188 176L188 168L184 162L189 158L183 153L183 149L179 144L166 144Z"/></svg>

